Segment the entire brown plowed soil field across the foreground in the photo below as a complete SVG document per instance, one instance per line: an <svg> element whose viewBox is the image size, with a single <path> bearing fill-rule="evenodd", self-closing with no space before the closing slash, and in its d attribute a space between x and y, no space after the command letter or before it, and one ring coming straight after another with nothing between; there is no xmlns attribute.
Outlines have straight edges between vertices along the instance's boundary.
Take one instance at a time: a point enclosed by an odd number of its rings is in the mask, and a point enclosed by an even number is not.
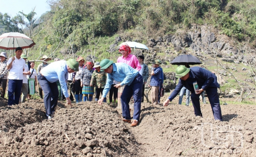
<svg viewBox="0 0 256 157"><path fill-rule="evenodd" d="M221 122L210 104L201 104L201 118L177 100L168 107L142 103L137 127L121 120L120 109L93 101L72 108L59 102L47 120L43 100L12 107L1 100L0 156L255 157L255 105L221 105Z"/></svg>

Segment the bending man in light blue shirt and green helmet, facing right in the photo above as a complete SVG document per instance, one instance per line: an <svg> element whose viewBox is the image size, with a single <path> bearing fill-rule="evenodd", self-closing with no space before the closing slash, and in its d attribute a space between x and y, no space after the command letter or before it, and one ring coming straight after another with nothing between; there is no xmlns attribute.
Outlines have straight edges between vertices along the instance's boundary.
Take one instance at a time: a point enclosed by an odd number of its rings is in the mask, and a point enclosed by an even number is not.
<svg viewBox="0 0 256 157"><path fill-rule="evenodd" d="M53 117L58 102L59 92L56 81L59 80L63 94L67 98L67 104L72 107L67 91L67 74L78 71L78 66L79 63L75 59L69 59L68 61L53 62L38 73L38 82L44 91L44 107L48 119Z"/></svg>

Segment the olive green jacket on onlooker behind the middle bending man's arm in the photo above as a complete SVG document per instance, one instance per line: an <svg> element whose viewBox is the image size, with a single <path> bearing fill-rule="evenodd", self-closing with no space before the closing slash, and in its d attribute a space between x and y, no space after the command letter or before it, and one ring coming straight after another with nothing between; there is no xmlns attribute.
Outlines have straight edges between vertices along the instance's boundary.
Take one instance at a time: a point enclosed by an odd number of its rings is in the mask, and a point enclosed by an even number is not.
<svg viewBox="0 0 256 157"><path fill-rule="evenodd" d="M95 88L104 88L106 84L106 73L105 71L97 71L94 70L92 74L92 78L90 84L95 85Z"/></svg>

